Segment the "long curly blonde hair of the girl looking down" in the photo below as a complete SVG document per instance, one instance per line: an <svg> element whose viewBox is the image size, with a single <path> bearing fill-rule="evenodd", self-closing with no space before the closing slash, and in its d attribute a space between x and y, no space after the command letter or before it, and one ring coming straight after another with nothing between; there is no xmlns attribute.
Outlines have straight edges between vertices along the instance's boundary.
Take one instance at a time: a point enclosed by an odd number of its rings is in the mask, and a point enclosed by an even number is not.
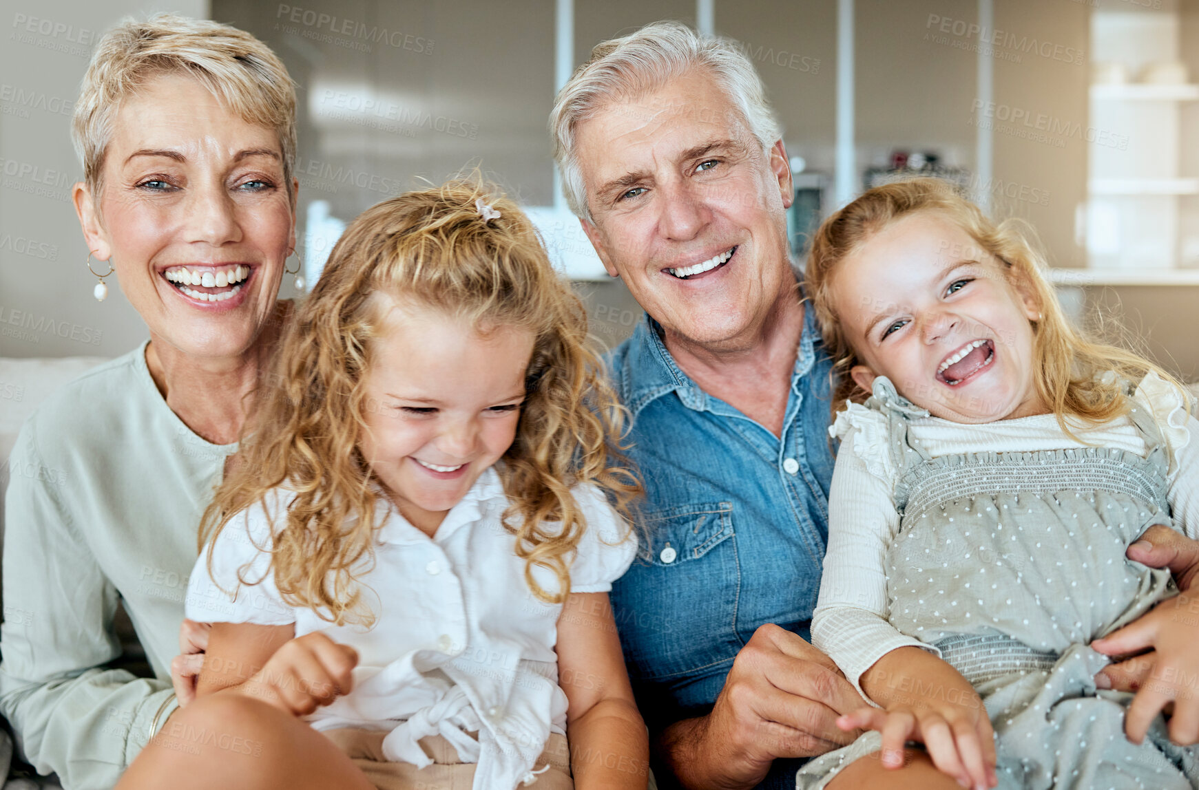
<svg viewBox="0 0 1199 790"><path fill-rule="evenodd" d="M480 199L499 218L484 221ZM525 581L542 601L565 601L568 562L586 529L571 487L597 487L627 518L639 484L622 452L623 411L590 348L583 303L550 266L517 204L477 181L385 200L345 229L284 332L241 458L204 513L200 545L285 486L295 492L287 523L272 525L273 545L265 548L279 593L338 625L370 622L369 614L360 617L351 569L373 559L380 526L372 472L359 451L370 408L364 379L375 363L372 340L385 325L380 300L370 298L378 293L471 326L535 336L516 440L496 471L510 501L504 525L525 560ZM211 561L210 543L210 568ZM534 566L558 577L556 592L537 584Z"/></svg>

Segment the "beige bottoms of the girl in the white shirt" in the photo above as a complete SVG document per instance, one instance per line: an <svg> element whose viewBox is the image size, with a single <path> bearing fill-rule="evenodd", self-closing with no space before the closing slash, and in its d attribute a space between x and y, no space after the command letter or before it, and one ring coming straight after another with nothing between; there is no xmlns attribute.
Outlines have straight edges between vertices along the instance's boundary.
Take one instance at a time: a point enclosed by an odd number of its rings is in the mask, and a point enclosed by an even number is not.
<svg viewBox="0 0 1199 790"><path fill-rule="evenodd" d="M433 765L423 768L411 762L388 762L382 755L386 732L341 729L327 730L324 735L345 752L379 790L470 790L475 782L475 764L462 762L453 744L440 735L420 740L421 748L433 758ZM537 774L531 785L534 790L574 790L565 735L549 734L546 750L534 768L546 765L549 770Z"/></svg>

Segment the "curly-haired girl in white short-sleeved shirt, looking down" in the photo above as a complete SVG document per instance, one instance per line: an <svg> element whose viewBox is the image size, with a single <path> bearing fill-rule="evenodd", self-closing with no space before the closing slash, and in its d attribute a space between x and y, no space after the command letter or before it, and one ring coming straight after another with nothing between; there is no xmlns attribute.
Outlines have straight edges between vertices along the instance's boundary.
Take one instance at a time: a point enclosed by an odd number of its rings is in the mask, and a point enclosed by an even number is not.
<svg viewBox="0 0 1199 790"><path fill-rule="evenodd" d="M121 786L645 788L607 596L635 481L528 217L367 210L278 358L201 524L199 699Z"/></svg>

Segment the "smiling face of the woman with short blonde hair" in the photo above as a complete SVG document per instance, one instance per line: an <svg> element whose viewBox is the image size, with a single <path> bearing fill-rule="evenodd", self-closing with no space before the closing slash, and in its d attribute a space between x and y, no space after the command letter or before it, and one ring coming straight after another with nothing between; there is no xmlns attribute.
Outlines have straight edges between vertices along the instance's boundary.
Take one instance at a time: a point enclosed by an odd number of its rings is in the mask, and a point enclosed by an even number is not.
<svg viewBox="0 0 1199 790"><path fill-rule="evenodd" d="M275 310L295 245L287 187L275 129L167 73L122 103L100 194L79 187L77 205L89 248L112 261L153 338L231 356Z"/></svg>

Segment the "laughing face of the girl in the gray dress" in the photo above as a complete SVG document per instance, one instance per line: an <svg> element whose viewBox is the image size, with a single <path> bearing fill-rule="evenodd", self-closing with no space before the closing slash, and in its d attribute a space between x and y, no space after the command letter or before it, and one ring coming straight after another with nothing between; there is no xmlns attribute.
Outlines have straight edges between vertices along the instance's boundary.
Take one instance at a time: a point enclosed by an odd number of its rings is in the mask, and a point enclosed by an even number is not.
<svg viewBox="0 0 1199 790"><path fill-rule="evenodd" d="M962 423L1046 412L1032 291L946 215L916 212L875 233L840 261L832 291L866 391L885 375L914 404Z"/></svg>

